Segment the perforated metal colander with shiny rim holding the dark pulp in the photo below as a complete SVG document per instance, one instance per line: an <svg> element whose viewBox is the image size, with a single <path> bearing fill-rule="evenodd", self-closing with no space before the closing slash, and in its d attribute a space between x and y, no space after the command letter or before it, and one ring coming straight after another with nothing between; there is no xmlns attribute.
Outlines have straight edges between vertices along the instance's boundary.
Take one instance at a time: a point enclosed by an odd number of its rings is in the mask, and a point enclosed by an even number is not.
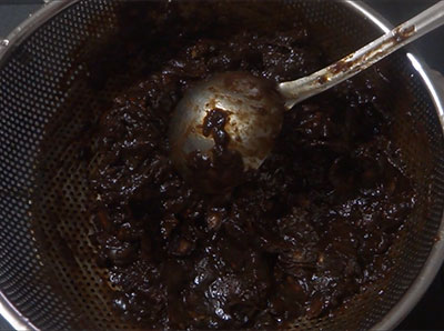
<svg viewBox="0 0 444 331"><path fill-rule="evenodd" d="M95 264L87 173L97 160L79 160L81 144L75 143L97 100L119 92L118 79L92 92L81 77L87 70L82 61L115 41L121 6L105 0L57 1L17 29L8 47L0 47L0 310L16 328L134 327L113 312L115 289L107 270ZM269 7L283 19L319 26L322 33L314 37L332 40L332 60L377 37L384 26L355 1L284 1ZM414 179L416 209L391 250L394 268L386 279L341 307L334 318L301 319L295 328L393 328L441 265L441 99L413 56L398 52L385 62L398 72L392 93L392 106L398 109L393 140L404 151L405 171Z"/></svg>

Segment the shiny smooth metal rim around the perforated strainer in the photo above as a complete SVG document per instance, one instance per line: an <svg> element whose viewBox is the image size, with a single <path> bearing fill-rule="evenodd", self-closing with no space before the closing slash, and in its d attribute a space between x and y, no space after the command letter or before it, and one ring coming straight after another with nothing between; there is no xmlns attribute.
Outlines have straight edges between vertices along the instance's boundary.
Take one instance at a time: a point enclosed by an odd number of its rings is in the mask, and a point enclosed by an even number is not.
<svg viewBox="0 0 444 331"><path fill-rule="evenodd" d="M67 8L80 2L81 0L68 0L68 1L52 1L44 4L31 17L19 24L11 33L7 37L8 43L0 47L0 67L2 67L13 50L26 41L38 28L43 26L50 19L56 17ZM346 0L344 2L351 9L363 14L364 18L369 19L372 23L377 26L382 31L387 31L392 24L384 19L376 10L371 8L363 1ZM426 86L427 92L435 106L435 110L440 118L441 127L444 131L444 107L442 100L444 100L444 89L437 87L434 80L431 78L432 73L427 64L417 54L407 53L410 61L414 69L422 78ZM440 224L440 229L436 235L432 250L424 262L418 275L415 278L413 283L408 287L407 291L401 297L398 302L377 322L372 330L391 330L394 329L415 307L415 304L423 297L436 273L438 272L444 261L444 215ZM16 330L39 330L32 324L20 311L8 300L7 295L0 291L0 315L2 315Z"/></svg>

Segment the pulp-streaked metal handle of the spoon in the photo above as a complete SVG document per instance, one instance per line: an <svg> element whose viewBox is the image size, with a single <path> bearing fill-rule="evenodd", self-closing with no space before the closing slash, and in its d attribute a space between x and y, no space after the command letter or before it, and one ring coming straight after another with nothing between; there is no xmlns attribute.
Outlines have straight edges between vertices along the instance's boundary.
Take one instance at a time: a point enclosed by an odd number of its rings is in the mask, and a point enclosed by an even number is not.
<svg viewBox="0 0 444 331"><path fill-rule="evenodd" d="M291 109L297 102L352 78L403 46L411 43L442 24L444 24L444 1L437 2L337 62L311 76L280 83L278 90L286 100L285 108Z"/></svg>

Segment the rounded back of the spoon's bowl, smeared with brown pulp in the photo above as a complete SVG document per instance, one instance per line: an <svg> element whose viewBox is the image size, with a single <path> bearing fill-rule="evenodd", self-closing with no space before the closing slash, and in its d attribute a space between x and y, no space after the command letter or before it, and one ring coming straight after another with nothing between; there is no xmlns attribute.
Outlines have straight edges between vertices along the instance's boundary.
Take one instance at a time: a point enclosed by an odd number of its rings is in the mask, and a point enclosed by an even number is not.
<svg viewBox="0 0 444 331"><path fill-rule="evenodd" d="M185 93L170 124L174 163L186 173L190 153L200 151L212 159L214 139L204 134L203 123L214 109L226 116L228 149L242 156L245 170L258 169L274 146L285 109L272 84L246 72L215 74Z"/></svg>

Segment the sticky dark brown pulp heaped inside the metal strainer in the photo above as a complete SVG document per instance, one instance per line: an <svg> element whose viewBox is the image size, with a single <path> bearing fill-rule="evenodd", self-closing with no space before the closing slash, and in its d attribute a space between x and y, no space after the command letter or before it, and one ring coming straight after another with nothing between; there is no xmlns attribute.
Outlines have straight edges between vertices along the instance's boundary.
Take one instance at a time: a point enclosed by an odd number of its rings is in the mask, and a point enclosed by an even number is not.
<svg viewBox="0 0 444 331"><path fill-rule="evenodd" d="M184 91L229 70L291 80L329 57L302 21L259 10L268 19L254 26L250 7L239 6L242 19L198 3L130 7L121 19L145 22L143 33L90 67L95 88L105 84L98 68L139 73L91 132L101 160L91 218L113 304L148 329L284 328L332 313L389 272L387 250L414 207L390 138L391 82L361 76L297 104L258 171L228 193L202 194L169 159Z"/></svg>

